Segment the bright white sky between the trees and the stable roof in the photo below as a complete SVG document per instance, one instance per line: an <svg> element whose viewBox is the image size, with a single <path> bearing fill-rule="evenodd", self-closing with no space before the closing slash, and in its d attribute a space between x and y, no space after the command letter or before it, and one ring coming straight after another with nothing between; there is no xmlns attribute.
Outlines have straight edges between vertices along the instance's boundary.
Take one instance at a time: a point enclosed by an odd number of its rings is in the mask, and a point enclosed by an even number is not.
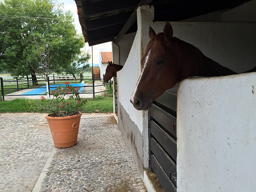
<svg viewBox="0 0 256 192"><path fill-rule="evenodd" d="M64 10L70 10L73 12L73 18L75 20L76 31L78 33L82 32L81 25L79 23L78 15L76 13L76 2L74 0L59 0L59 3L64 3ZM84 50L90 50L92 53L92 47L89 47L88 43L85 44ZM112 51L111 42L94 45L93 46L93 64L99 64L99 52ZM89 60L89 63L92 63L92 59Z"/></svg>

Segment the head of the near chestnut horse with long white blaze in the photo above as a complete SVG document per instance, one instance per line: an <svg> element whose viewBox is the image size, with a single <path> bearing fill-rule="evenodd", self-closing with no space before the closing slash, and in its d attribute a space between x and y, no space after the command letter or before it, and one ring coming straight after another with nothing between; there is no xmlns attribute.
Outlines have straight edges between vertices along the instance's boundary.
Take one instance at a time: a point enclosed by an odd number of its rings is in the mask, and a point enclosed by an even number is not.
<svg viewBox="0 0 256 192"><path fill-rule="evenodd" d="M143 69L130 101L137 110L148 110L151 103L179 81L177 50L169 22L162 33L149 27L150 41L141 59Z"/></svg>

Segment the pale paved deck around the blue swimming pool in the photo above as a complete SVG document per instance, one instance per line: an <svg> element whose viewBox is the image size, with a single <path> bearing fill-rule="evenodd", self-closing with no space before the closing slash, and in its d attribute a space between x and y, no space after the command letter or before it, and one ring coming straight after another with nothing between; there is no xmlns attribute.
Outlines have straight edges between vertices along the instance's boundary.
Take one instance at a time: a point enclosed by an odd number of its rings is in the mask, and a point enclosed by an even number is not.
<svg viewBox="0 0 256 192"><path fill-rule="evenodd" d="M94 85L95 86L102 85L102 82L101 81L95 81ZM92 88L92 87L90 87L90 88ZM10 100L17 99L17 98L19 98L19 99L41 99L42 95L37 95L37 96L21 95L21 94L29 92L31 90L34 90L34 89L24 89L24 90L20 90L20 91L14 92L14 93L7 94L7 95L4 96L4 100L5 101L10 101ZM104 87L104 86L95 87L95 92L104 91L104 90L106 90L106 87ZM101 93L95 93L95 96L99 96L101 94L102 94L102 92ZM19 96L14 96L14 95L19 95ZM67 95L67 96L65 96L65 98L68 99L69 96L70 95ZM46 95L45 95L45 97L47 98ZM81 98L93 98L93 93L81 93L80 97Z"/></svg>

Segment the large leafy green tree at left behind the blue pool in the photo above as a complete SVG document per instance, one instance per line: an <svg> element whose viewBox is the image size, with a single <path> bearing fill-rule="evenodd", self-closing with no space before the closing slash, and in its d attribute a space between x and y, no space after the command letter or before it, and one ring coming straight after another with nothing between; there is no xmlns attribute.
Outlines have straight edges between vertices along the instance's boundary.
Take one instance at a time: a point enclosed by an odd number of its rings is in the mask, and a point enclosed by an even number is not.
<svg viewBox="0 0 256 192"><path fill-rule="evenodd" d="M51 55L50 71L61 73L69 67L84 41L76 35L71 12L63 12L62 6L56 0L0 2L0 71L31 74L35 84L36 70L43 65L38 61L44 58L37 46Z"/></svg>

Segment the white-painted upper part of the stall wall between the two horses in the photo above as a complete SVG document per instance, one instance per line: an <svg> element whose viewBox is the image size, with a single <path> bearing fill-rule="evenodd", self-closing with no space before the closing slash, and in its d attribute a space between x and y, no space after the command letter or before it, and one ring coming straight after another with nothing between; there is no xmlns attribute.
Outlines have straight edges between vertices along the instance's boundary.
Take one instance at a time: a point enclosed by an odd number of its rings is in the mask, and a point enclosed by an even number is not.
<svg viewBox="0 0 256 192"><path fill-rule="evenodd" d="M130 118L138 126L140 133L143 134L143 128L147 128L148 112L137 111L130 102L131 94L137 84L141 72L140 60L144 51L141 35L144 35L145 23L151 23L154 19L154 8L148 9L143 6L137 10L138 29L135 35L128 58L125 61L122 70L117 72L119 84L119 102L124 109L130 114ZM148 40L149 41L149 40ZM148 42L147 41L147 42ZM144 44L146 46L146 44ZM119 54L120 54L119 49Z"/></svg>

